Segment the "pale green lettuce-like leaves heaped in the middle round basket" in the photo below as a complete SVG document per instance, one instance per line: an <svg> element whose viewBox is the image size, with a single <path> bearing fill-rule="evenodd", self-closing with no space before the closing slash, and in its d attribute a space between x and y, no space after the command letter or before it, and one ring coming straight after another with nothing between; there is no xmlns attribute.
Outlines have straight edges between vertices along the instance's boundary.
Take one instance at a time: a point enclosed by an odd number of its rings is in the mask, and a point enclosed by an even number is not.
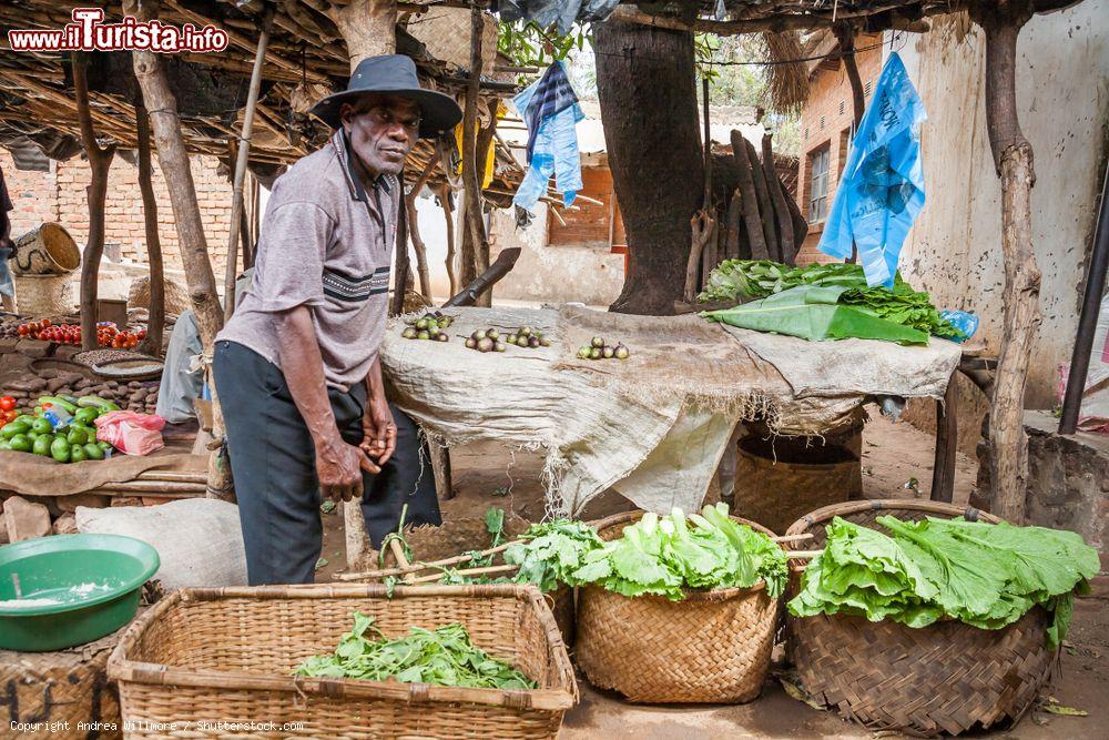
<svg viewBox="0 0 1109 740"><path fill-rule="evenodd" d="M623 536L584 555L570 574L574 585L599 584L622 596L684 598L683 589L749 588L766 581L771 598L785 590L785 554L770 537L728 517L728 506L706 506L689 519L681 509L648 513Z"/></svg>

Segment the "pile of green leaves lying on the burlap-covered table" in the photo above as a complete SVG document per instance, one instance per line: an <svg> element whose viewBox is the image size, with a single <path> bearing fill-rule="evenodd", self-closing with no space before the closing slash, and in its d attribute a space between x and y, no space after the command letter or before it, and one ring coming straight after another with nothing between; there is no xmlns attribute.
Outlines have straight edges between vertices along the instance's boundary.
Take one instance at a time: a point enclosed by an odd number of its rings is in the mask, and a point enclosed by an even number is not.
<svg viewBox="0 0 1109 740"><path fill-rule="evenodd" d="M781 302L773 301L769 305L749 304L739 308L729 308L724 312L710 312L708 316L725 321L735 326L744 326L757 331L779 331L782 334L813 338L806 334L796 334L793 331L787 331L791 321L795 323L803 318L800 315L800 311L796 311L796 308L790 310L787 306L827 303L828 300L835 297L832 303L853 308L853 311L846 312L845 315L854 322L858 320L853 314L859 312L867 316L923 332L925 335L932 334L952 338L963 337L962 332L940 318L936 307L932 305L928 294L914 291L908 283L902 280L899 273L894 278L894 287L892 290L881 285L871 287L866 284L866 276L861 265L836 263L791 267L771 260L725 260L709 274L705 290L698 296L698 300L710 302L766 298L803 286L836 288L838 293L833 296L832 293L827 292L804 291L797 294L796 298ZM776 311L773 314L763 315L761 310L764 307L776 307ZM823 310L808 308L805 314L812 314L814 311ZM791 317L790 314L793 312L796 312L798 315ZM742 316L743 323L735 324L733 321L729 321L729 315ZM751 325L752 322L756 322L757 325ZM782 322L782 327L775 328L777 325L775 322ZM869 324L872 322L867 322L867 325ZM838 335L833 334L832 336ZM847 333L845 336L862 335ZM919 338L912 339L910 337L907 337L907 339L919 341ZM894 338L892 341L904 342L905 339Z"/></svg>

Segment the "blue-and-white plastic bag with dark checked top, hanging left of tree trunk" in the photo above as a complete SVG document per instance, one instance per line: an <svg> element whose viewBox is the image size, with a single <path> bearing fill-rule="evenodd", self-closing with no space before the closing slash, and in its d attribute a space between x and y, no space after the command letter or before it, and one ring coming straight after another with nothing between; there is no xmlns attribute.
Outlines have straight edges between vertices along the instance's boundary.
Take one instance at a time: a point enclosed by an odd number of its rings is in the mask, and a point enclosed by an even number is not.
<svg viewBox="0 0 1109 740"><path fill-rule="evenodd" d="M570 205L582 187L577 123L586 114L562 62L553 62L542 78L512 99L512 105L528 125L528 171L512 203L535 213L553 175L562 202Z"/></svg>

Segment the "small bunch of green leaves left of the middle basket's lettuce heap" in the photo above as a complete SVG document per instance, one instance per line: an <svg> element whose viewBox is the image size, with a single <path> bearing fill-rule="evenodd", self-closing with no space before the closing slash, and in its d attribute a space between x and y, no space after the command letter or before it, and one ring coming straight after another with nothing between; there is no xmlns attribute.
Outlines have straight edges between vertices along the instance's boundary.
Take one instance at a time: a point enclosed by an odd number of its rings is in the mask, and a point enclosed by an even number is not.
<svg viewBox="0 0 1109 740"><path fill-rule="evenodd" d="M535 584L543 592L574 584L572 574L584 565L586 554L604 545L592 527L571 519L533 524L520 538L505 550L505 562L520 566L517 582Z"/></svg>

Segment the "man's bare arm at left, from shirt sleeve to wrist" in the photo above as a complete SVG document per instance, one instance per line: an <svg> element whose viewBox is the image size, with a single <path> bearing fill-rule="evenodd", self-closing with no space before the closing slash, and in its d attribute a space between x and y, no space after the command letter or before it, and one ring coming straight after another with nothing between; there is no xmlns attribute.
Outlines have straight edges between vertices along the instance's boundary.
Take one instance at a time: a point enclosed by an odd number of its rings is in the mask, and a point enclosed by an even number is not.
<svg viewBox="0 0 1109 740"><path fill-rule="evenodd" d="M324 378L324 358L307 306L297 306L278 320L281 369L293 403L312 434L316 449L342 443Z"/></svg>

